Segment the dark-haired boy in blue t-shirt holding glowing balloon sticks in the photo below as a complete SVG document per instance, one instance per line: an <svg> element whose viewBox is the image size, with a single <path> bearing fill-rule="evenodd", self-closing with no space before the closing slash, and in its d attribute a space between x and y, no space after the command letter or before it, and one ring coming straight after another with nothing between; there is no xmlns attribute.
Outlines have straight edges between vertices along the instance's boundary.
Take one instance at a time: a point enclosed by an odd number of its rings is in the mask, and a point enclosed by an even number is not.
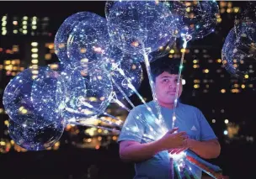
<svg viewBox="0 0 256 179"><path fill-rule="evenodd" d="M167 56L152 63L157 101L161 107L164 123L168 133L159 140L149 141L152 130L159 126L152 122L152 115L147 106L157 116L154 102L133 108L125 120L119 137L120 158L123 161L135 162L136 176L134 179L170 179L173 178L173 166L168 152L177 154L189 149L204 159L216 158L221 147L211 126L198 108L178 103L176 108L176 126L171 129L173 104L179 73L179 63L173 63ZM179 97L182 83L179 83ZM177 133L174 133L178 131ZM190 166L199 178L201 171Z"/></svg>

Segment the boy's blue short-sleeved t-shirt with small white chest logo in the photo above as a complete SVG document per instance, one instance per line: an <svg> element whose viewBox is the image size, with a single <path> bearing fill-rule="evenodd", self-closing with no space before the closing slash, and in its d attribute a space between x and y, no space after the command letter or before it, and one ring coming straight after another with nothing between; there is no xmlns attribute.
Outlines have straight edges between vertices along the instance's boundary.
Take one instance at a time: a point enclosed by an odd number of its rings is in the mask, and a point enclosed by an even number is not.
<svg viewBox="0 0 256 179"><path fill-rule="evenodd" d="M119 136L119 142L122 140L132 140L147 143L150 136L159 125L155 123L152 114L147 110L152 108L152 113L157 116L157 108L154 102L139 105L133 108L125 120L125 124ZM164 123L168 129L172 129L173 109L161 107ZM176 108L175 126L179 131L185 131L190 139L204 141L216 139L210 124L205 119L200 109L183 103L178 103ZM153 137L153 136L152 136ZM147 161L135 163L136 176L134 179L169 179L171 177L171 165L168 151L161 151ZM202 171L195 166L186 163L198 178L201 178ZM172 171L173 172L173 171Z"/></svg>

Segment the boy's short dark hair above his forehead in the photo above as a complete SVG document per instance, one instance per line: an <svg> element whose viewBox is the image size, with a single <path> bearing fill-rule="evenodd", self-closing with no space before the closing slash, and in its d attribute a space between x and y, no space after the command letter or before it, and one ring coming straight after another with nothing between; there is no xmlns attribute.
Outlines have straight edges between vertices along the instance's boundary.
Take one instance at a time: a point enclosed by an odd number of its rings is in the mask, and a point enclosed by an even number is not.
<svg viewBox="0 0 256 179"><path fill-rule="evenodd" d="M165 55L156 61L151 63L151 71L153 81L156 82L156 77L161 75L164 71L170 74L179 74L180 60L170 59L168 55Z"/></svg>

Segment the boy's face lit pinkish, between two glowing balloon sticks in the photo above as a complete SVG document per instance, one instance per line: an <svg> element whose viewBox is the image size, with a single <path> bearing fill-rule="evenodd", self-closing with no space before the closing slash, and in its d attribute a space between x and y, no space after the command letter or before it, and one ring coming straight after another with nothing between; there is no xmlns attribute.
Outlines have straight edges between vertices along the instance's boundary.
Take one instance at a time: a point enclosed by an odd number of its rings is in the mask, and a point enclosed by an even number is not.
<svg viewBox="0 0 256 179"><path fill-rule="evenodd" d="M181 79L180 79L181 80ZM177 89L178 75L164 71L156 77L155 90L157 100L160 103L174 103L175 92ZM182 82L179 82L178 98L182 93Z"/></svg>

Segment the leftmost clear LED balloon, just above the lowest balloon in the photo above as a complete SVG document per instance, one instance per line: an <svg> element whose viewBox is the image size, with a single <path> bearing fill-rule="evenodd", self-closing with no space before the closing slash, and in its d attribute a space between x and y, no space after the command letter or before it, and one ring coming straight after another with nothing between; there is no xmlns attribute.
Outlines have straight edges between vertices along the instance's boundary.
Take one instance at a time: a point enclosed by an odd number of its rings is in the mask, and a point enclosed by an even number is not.
<svg viewBox="0 0 256 179"><path fill-rule="evenodd" d="M54 84L56 73L47 67L31 67L19 73L8 83L3 93L3 105L8 116L17 124L26 126L43 127L53 122L61 123L54 104L54 87L41 85ZM34 82L38 82L34 88L32 97L32 88ZM40 96L42 95L42 96ZM49 105L49 107L48 107ZM46 113L45 113L46 112Z"/></svg>

